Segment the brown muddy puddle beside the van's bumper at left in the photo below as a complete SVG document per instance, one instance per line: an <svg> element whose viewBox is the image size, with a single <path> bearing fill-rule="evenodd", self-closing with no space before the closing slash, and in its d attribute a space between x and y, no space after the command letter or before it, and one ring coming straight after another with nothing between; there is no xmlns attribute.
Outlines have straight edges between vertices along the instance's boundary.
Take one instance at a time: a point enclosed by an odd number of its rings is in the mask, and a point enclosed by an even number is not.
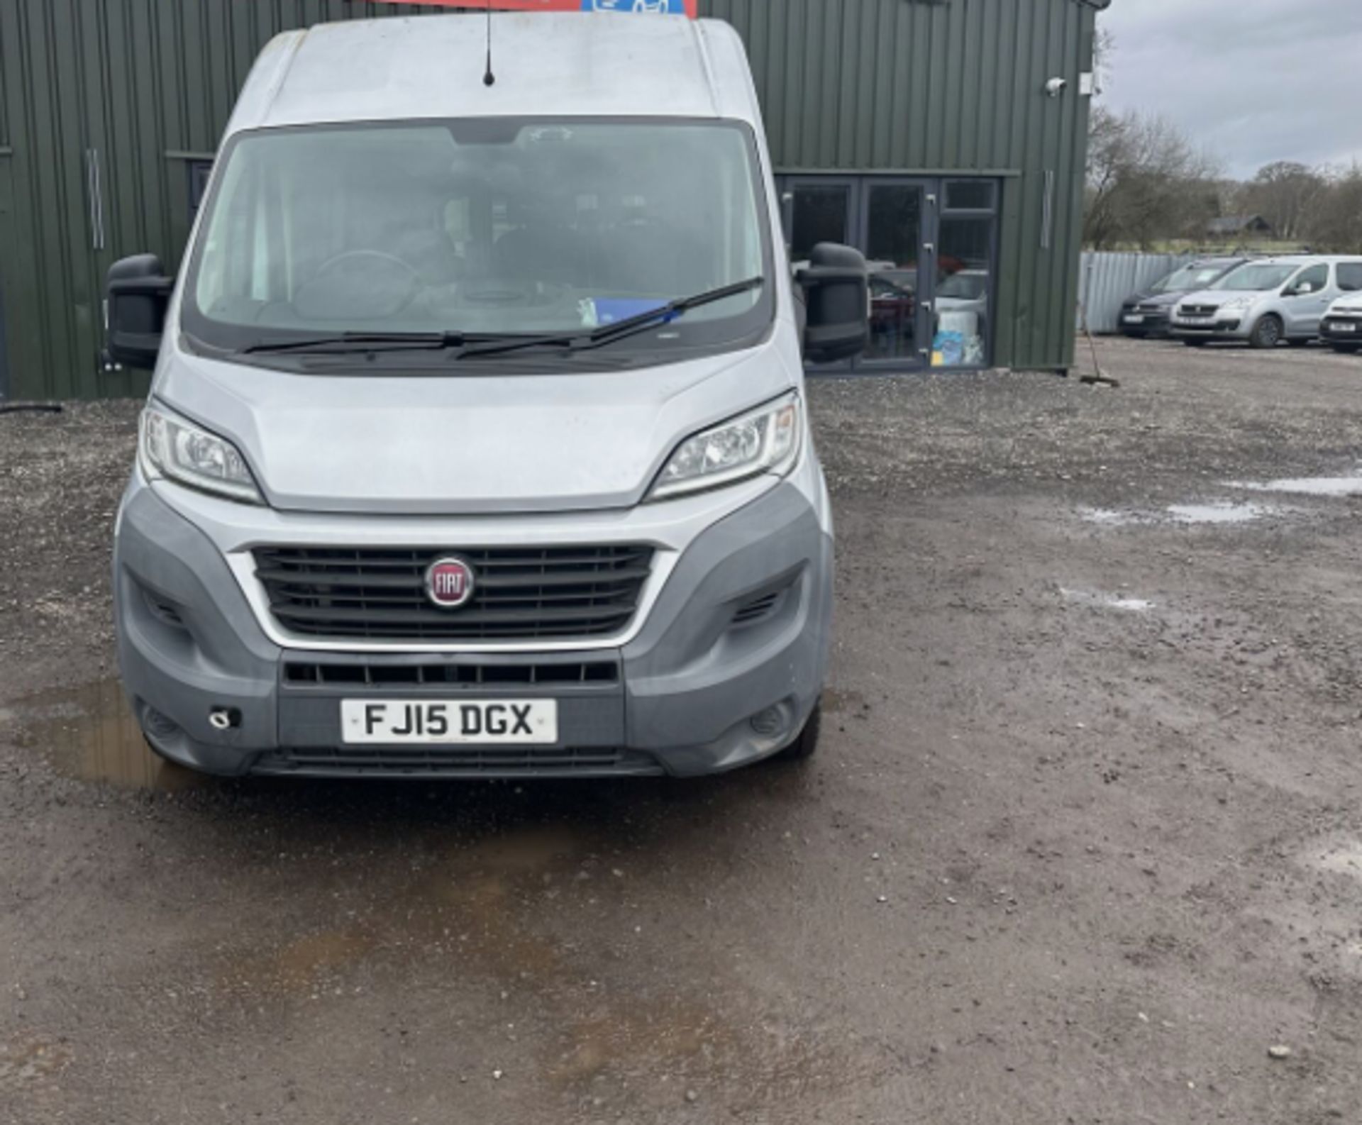
<svg viewBox="0 0 1362 1125"><path fill-rule="evenodd" d="M116 680L27 696L0 708L0 725L69 778L162 793L203 783L151 753Z"/></svg>

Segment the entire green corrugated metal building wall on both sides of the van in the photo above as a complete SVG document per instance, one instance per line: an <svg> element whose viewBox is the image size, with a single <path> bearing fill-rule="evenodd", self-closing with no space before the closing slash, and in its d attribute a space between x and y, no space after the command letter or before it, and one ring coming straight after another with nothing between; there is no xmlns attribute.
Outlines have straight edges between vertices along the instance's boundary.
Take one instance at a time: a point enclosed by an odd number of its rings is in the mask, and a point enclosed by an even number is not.
<svg viewBox="0 0 1362 1125"><path fill-rule="evenodd" d="M1077 0L701 0L752 54L782 170L1002 174L994 360L1068 366L1094 12ZM0 309L10 398L144 394L101 376L102 276L174 263L187 157L217 146L259 48L358 0L0 0ZM1050 99L1046 79L1069 79ZM94 214L91 157L104 208ZM1046 173L1053 240L1042 248ZM97 248L98 227L102 248ZM5 375L7 373L7 375Z"/></svg>

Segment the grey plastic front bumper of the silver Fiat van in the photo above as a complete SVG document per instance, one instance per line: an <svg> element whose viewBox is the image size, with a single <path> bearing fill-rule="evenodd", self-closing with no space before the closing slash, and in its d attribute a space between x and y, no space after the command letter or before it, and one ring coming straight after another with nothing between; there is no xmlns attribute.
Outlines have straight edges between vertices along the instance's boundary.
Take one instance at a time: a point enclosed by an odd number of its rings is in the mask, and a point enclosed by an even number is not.
<svg viewBox="0 0 1362 1125"><path fill-rule="evenodd" d="M158 494L173 486L135 474L114 549L124 686L153 748L210 774L693 776L746 765L794 741L827 669L827 494L816 462L799 475L695 534L614 647L384 652L276 643L219 543ZM342 699L553 699L560 741L346 746Z"/></svg>

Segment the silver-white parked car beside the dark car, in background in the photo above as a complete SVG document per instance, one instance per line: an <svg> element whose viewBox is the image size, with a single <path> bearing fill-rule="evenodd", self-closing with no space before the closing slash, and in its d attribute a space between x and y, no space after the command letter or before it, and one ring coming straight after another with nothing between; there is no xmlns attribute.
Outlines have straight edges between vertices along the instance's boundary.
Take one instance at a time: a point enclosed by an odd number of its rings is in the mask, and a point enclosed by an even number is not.
<svg viewBox="0 0 1362 1125"><path fill-rule="evenodd" d="M1182 297L1173 335L1190 347L1238 340L1276 347L1320 335L1324 311L1340 296L1337 267L1362 257L1295 255L1248 262L1200 293Z"/></svg>

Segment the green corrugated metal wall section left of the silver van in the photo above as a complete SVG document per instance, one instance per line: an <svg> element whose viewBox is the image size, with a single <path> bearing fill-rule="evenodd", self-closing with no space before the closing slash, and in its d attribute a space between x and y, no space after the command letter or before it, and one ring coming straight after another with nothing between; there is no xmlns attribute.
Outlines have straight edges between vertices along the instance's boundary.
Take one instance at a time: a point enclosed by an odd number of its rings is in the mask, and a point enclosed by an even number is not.
<svg viewBox="0 0 1362 1125"><path fill-rule="evenodd" d="M146 394L97 370L108 267L173 268L191 154L211 154L260 46L290 27L410 15L355 0L0 0L0 285L14 399ZM87 154L104 202L104 248Z"/></svg>

